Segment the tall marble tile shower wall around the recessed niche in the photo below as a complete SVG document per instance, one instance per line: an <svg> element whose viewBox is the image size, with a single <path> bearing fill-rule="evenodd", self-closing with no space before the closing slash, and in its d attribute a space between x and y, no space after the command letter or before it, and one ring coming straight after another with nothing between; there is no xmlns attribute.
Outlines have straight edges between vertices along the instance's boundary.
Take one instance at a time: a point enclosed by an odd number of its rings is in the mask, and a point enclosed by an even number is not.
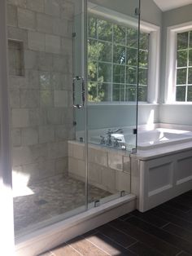
<svg viewBox="0 0 192 256"><path fill-rule="evenodd" d="M29 182L67 172L73 18L72 0L7 0L8 38L24 47L24 75L9 77L13 170Z"/></svg>

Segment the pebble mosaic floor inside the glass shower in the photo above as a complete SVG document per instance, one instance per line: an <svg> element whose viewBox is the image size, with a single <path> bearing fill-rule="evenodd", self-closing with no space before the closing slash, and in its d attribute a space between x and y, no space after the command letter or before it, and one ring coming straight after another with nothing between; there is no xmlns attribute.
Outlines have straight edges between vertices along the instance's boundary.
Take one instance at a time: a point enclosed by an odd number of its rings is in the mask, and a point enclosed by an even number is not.
<svg viewBox="0 0 192 256"><path fill-rule="evenodd" d="M26 228L85 205L85 183L68 176L57 176L28 185L33 192L14 198L15 236ZM89 202L111 193L89 185Z"/></svg>

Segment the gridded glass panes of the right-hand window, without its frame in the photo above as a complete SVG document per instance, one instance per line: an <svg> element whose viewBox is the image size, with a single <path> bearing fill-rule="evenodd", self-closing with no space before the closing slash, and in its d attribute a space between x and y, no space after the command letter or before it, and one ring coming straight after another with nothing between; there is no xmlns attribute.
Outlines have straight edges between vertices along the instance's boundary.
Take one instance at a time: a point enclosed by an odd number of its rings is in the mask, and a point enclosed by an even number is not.
<svg viewBox="0 0 192 256"><path fill-rule="evenodd" d="M177 33L176 101L192 101L192 30Z"/></svg>

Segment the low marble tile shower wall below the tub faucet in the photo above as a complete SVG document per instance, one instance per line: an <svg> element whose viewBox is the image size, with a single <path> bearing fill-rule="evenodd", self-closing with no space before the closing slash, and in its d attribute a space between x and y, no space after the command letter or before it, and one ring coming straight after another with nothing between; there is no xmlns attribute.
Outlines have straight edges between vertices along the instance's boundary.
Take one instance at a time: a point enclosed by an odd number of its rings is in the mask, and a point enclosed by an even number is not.
<svg viewBox="0 0 192 256"><path fill-rule="evenodd" d="M89 144L89 184L107 192L130 192L129 152L103 148ZM68 141L68 173L73 178L85 181L85 146L83 143Z"/></svg>

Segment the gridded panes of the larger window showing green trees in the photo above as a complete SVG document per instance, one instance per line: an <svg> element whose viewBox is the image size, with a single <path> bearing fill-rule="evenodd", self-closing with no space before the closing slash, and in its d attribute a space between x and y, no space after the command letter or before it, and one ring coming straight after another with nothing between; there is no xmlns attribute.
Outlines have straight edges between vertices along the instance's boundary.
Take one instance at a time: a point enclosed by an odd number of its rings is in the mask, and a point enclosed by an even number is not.
<svg viewBox="0 0 192 256"><path fill-rule="evenodd" d="M89 15L89 102L132 102L137 89L137 29ZM140 35L138 100L147 101L149 33Z"/></svg>

